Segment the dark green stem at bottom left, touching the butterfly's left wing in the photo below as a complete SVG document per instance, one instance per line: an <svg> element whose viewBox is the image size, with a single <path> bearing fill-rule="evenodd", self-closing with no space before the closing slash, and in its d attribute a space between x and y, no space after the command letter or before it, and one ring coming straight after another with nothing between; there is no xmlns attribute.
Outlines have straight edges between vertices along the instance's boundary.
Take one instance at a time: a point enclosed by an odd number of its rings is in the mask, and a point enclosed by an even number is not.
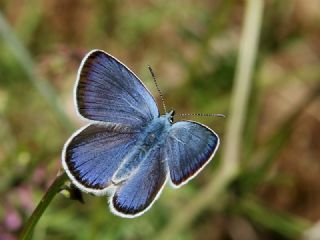
<svg viewBox="0 0 320 240"><path fill-rule="evenodd" d="M31 239L33 229L35 225L38 223L40 217L52 201L53 197L60 192L61 186L67 180L67 174L62 173L61 175L57 176L54 182L50 185L49 189L47 190L46 194L43 196L41 201L39 202L36 209L33 211L31 217L28 219L27 223L25 224L21 234L20 240L28 240Z"/></svg>

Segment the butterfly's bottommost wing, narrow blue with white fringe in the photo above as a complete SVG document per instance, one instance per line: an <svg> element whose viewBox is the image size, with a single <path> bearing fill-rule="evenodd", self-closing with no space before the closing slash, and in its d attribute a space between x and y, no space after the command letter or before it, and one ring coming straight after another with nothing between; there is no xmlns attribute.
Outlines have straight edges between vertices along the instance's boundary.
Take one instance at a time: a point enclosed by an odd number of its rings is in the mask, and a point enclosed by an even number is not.
<svg viewBox="0 0 320 240"><path fill-rule="evenodd" d="M167 170L159 147L151 149L138 171L123 182L110 201L116 215L135 217L148 210L160 195L167 179Z"/></svg>

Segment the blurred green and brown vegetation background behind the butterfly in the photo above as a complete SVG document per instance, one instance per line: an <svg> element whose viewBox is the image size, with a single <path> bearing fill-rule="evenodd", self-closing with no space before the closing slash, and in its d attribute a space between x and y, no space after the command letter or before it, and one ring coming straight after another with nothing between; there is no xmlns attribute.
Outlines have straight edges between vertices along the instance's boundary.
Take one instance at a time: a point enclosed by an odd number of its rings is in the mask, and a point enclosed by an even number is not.
<svg viewBox="0 0 320 240"><path fill-rule="evenodd" d="M104 197L84 194L81 204L58 194L34 239L320 239L319 0L264 1L239 172L210 195L224 162L247 4L1 0L0 239L18 238L61 167L64 142L85 124L72 88L94 48L116 56L158 96L151 65L177 113L226 114L193 119L213 128L221 147L193 181L166 187L136 219L112 215Z"/></svg>

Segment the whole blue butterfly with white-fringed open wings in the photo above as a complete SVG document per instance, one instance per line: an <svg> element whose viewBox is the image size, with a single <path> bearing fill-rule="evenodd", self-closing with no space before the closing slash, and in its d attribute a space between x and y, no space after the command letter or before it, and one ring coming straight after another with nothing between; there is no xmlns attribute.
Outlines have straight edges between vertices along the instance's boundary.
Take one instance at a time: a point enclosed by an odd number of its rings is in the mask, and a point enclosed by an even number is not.
<svg viewBox="0 0 320 240"><path fill-rule="evenodd" d="M80 190L109 195L111 211L136 217L159 197L167 180L180 187L213 158L219 137L193 121L173 123L124 64L102 50L89 52L74 88L89 124L65 143L62 165Z"/></svg>

